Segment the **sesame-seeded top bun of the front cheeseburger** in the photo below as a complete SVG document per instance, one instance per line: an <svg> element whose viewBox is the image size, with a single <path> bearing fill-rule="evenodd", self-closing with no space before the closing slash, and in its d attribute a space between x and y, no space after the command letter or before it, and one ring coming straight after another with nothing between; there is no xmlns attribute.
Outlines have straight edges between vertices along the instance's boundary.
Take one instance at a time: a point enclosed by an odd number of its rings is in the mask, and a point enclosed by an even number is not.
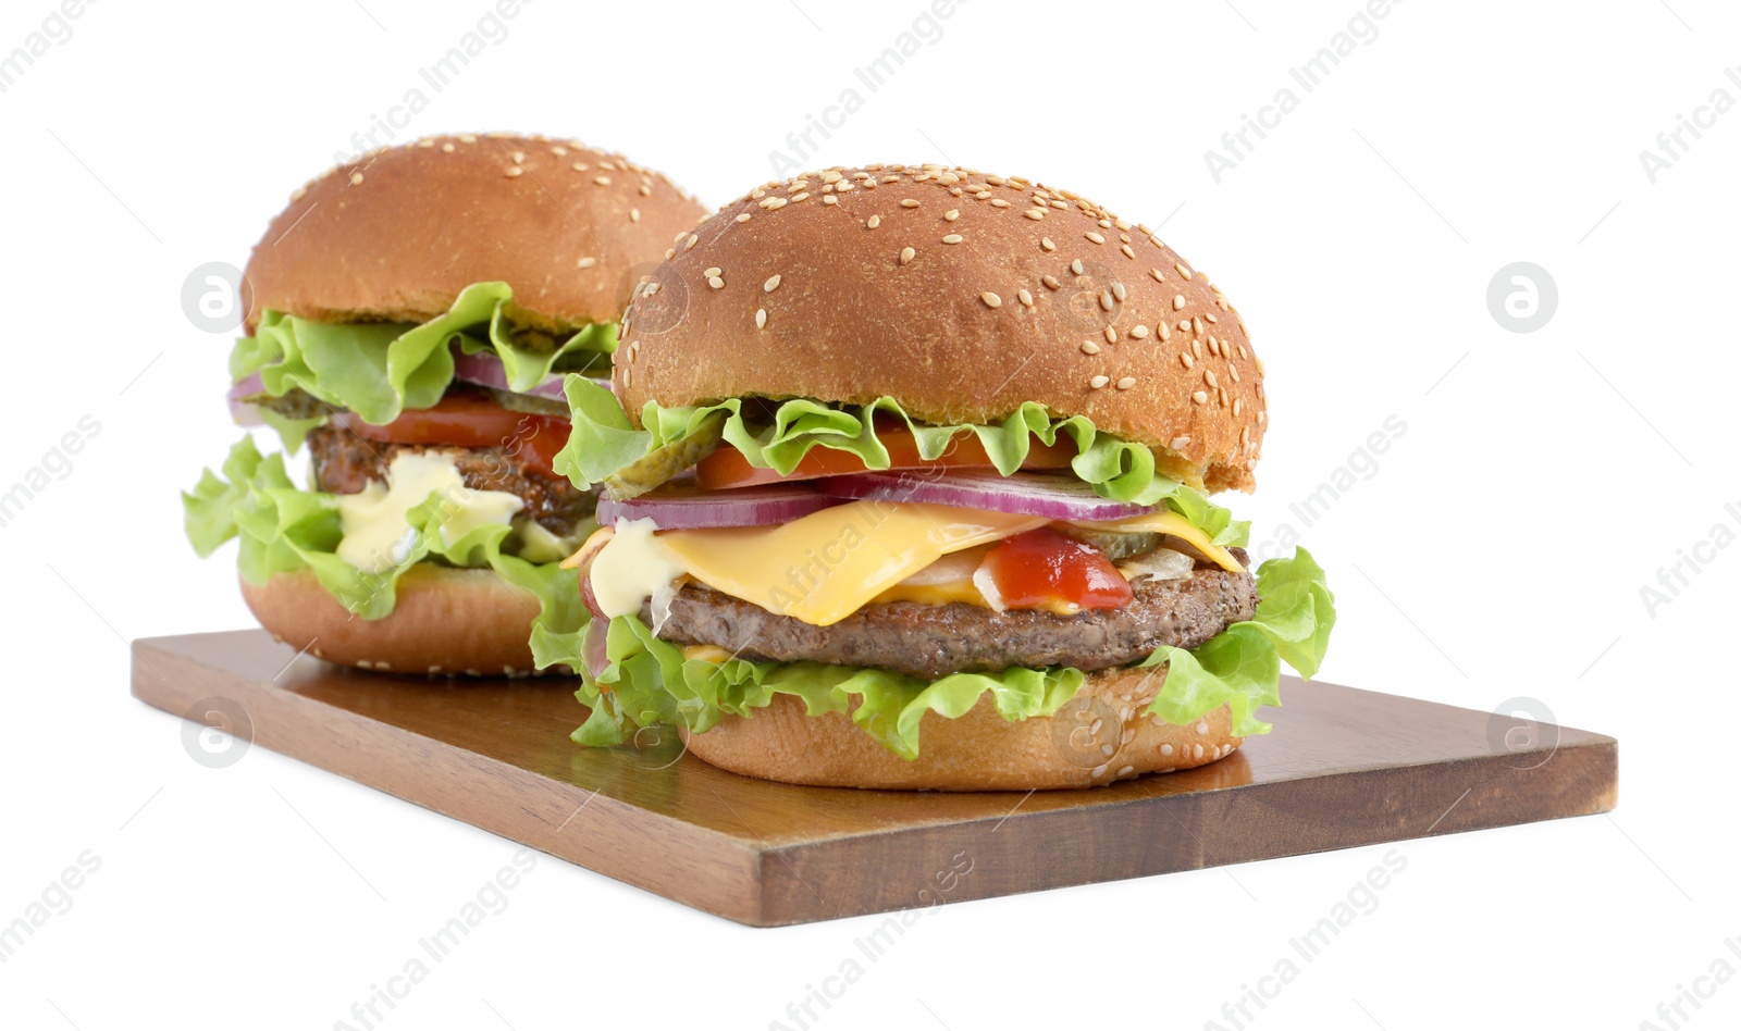
<svg viewBox="0 0 1741 1031"><path fill-rule="evenodd" d="M971 169L766 183L684 235L623 340L630 418L649 399L886 394L989 423L1038 401L1210 489L1252 488L1267 423L1245 326L1201 272L1069 190Z"/></svg>

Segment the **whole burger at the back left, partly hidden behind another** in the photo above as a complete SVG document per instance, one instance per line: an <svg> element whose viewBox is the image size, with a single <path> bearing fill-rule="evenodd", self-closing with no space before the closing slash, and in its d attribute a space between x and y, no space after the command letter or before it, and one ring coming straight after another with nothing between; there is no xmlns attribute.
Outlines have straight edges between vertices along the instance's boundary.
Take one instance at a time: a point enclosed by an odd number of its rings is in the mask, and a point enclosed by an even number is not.
<svg viewBox="0 0 1741 1031"><path fill-rule="evenodd" d="M557 563L595 493L559 475L562 378L606 376L634 280L705 209L622 155L434 136L313 179L266 228L230 354L237 442L183 495L200 556L240 540L272 634L336 664L521 674L587 620Z"/></svg>

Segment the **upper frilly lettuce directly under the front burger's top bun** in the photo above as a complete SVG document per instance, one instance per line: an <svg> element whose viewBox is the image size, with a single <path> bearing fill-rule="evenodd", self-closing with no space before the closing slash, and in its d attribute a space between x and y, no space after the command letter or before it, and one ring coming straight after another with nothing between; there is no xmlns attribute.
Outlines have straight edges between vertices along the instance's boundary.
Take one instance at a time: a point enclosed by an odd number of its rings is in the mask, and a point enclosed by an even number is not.
<svg viewBox="0 0 1741 1031"><path fill-rule="evenodd" d="M724 442L736 448L756 468L773 468L789 475L811 448L830 448L857 455L865 468L888 468L888 448L874 430L876 413L902 420L919 446L921 458L944 455L959 434L973 434L985 446L998 472L1010 475L1022 467L1034 437L1052 446L1060 439L1076 446L1071 470L1095 493L1118 502L1168 507L1210 535L1215 543L1243 547L1250 522L1236 521L1213 505L1201 491L1154 472L1154 453L1095 430L1085 416L1053 418L1043 404L1025 402L996 425L959 423L935 427L914 421L893 397L879 397L864 406L834 406L806 397L780 402L773 421L756 428L743 418L738 397L719 404L660 408L646 402L637 430L629 423L616 397L604 387L569 376L566 383L573 432L555 456L555 470L581 489L611 475L655 448L700 430L716 411L724 411Z"/></svg>

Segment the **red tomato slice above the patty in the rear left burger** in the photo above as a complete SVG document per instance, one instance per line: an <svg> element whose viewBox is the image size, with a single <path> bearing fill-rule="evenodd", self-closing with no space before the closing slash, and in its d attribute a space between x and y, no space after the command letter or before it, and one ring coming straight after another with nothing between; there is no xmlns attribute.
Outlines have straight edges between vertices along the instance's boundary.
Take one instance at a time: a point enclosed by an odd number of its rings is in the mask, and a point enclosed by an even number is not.
<svg viewBox="0 0 1741 1031"><path fill-rule="evenodd" d="M566 418L508 411L477 394L449 394L435 408L406 411L385 427L366 423L350 411L334 414L333 425L383 444L501 449L550 479L557 479L552 462L569 430Z"/></svg>

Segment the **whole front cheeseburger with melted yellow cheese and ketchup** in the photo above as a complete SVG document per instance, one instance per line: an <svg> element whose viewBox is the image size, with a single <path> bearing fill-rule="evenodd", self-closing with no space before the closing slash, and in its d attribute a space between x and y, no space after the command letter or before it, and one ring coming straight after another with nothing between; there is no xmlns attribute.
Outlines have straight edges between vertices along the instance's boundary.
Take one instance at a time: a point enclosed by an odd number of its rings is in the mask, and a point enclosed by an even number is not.
<svg viewBox="0 0 1741 1031"><path fill-rule="evenodd" d="M1269 423L1238 312L1069 190L926 165L766 183L677 244L557 456L575 738L676 726L792 784L1090 787L1266 733L1335 620L1254 569Z"/></svg>

